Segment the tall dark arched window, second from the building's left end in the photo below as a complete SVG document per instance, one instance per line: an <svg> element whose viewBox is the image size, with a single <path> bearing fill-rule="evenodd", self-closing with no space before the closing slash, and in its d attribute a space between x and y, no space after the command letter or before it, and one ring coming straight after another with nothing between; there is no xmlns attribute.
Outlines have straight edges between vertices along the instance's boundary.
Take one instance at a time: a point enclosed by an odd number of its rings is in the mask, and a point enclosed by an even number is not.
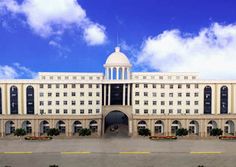
<svg viewBox="0 0 236 167"><path fill-rule="evenodd" d="M10 105L11 114L18 114L18 90L16 86L10 88Z"/></svg>

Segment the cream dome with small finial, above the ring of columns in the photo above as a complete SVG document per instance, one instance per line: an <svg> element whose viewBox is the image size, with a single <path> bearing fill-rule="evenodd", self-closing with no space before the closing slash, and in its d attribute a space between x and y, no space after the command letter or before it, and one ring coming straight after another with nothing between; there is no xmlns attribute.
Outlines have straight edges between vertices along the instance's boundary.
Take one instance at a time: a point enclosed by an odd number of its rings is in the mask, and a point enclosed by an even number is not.
<svg viewBox="0 0 236 167"><path fill-rule="evenodd" d="M112 66L125 66L130 67L131 64L129 59L125 56L124 53L120 52L120 48L116 47L115 52L110 54L106 60L105 67L112 67Z"/></svg>

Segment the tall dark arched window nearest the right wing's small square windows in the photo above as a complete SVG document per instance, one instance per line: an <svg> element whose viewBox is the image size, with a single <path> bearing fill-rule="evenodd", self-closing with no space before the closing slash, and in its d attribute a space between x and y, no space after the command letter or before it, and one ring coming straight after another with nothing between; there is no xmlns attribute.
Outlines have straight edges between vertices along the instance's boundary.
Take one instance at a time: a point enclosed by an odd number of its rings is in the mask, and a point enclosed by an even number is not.
<svg viewBox="0 0 236 167"><path fill-rule="evenodd" d="M212 91L210 86L204 88L204 114L211 114Z"/></svg>

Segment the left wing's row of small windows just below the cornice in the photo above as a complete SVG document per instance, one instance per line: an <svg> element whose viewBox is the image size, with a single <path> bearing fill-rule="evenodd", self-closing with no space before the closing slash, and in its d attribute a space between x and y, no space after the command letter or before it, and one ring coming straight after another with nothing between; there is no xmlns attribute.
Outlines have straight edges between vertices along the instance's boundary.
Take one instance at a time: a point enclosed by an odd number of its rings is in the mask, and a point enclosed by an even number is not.
<svg viewBox="0 0 236 167"><path fill-rule="evenodd" d="M52 86L55 86L56 89L60 89L60 88L64 88L64 89L67 89L69 88L70 85L70 88L72 89L75 89L76 88L76 84L40 84L39 87L42 89L42 88L48 88L48 89L51 89ZM84 88L85 87L85 84L79 84L79 88ZM88 88L93 88L93 84L88 84ZM99 89L100 88L100 85L99 84L96 84L96 88Z"/></svg>

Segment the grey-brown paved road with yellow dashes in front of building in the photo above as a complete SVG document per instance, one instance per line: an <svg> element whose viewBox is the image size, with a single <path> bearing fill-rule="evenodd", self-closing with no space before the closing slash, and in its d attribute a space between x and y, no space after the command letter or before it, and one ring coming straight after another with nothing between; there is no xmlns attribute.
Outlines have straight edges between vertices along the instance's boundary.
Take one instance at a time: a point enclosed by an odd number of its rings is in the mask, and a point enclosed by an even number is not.
<svg viewBox="0 0 236 167"><path fill-rule="evenodd" d="M148 138L0 140L0 166L235 167L236 142Z"/></svg>

